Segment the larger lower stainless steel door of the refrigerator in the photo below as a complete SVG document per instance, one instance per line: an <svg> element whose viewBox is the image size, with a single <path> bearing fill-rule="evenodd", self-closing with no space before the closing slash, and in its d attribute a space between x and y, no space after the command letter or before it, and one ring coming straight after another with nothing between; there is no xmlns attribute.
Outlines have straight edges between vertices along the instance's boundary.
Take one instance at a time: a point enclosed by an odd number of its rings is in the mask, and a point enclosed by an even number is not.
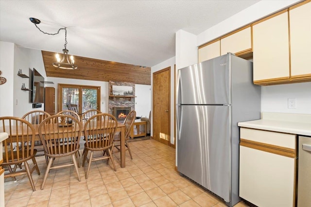
<svg viewBox="0 0 311 207"><path fill-rule="evenodd" d="M177 169L230 202L231 106L178 105Z"/></svg>

